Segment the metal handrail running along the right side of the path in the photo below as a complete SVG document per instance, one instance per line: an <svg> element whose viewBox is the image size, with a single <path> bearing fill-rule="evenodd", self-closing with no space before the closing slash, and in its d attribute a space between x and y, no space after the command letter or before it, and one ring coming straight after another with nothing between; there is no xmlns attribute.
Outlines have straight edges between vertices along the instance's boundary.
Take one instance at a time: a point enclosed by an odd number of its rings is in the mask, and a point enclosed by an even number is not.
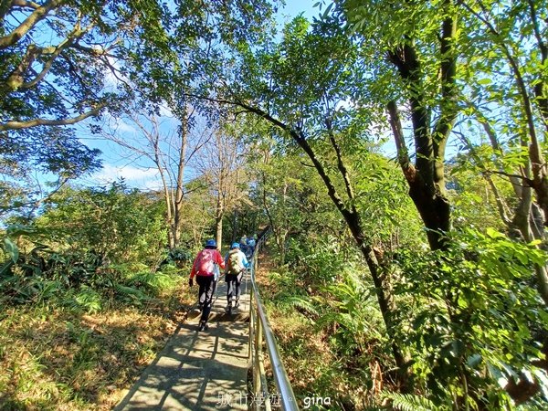
<svg viewBox="0 0 548 411"><path fill-rule="evenodd" d="M253 395L255 395L253 405L256 410L264 406L267 410L277 406L284 411L299 411L299 406L293 394L290 380L279 355L278 343L270 327L269 319L266 314L263 302L258 292L255 273L258 266L258 250L263 246L267 237L269 237L270 228L265 230L258 238L257 245L253 252L251 265L251 292L249 296L249 361L253 370ZM267 353L269 354L272 374L278 388L277 395L269 394L267 380L264 370L264 357L262 353L262 344L266 342Z"/></svg>

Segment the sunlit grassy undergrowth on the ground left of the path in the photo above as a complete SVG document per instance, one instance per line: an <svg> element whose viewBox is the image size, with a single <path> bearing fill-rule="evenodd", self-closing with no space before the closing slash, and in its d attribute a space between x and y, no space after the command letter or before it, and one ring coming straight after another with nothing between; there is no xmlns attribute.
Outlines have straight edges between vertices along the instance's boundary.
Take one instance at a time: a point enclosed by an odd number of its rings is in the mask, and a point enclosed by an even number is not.
<svg viewBox="0 0 548 411"><path fill-rule="evenodd" d="M12 279L17 289L0 299L0 409L115 406L191 302L183 277L170 267L126 268L118 281L78 287Z"/></svg>

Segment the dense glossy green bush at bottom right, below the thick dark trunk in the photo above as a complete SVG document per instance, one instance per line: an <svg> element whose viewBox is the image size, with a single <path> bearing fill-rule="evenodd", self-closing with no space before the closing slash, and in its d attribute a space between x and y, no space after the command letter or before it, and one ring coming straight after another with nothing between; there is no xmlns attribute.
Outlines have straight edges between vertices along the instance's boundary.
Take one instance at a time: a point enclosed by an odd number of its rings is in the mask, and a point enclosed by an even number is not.
<svg viewBox="0 0 548 411"><path fill-rule="evenodd" d="M455 233L443 253L407 252L396 292L401 338L413 349L416 374L437 405L458 397L469 406L510 404L511 379L544 372L532 365L548 313L534 289L534 266L546 255L493 229ZM543 377L540 381L543 381ZM452 395L457 395L453 397Z"/></svg>

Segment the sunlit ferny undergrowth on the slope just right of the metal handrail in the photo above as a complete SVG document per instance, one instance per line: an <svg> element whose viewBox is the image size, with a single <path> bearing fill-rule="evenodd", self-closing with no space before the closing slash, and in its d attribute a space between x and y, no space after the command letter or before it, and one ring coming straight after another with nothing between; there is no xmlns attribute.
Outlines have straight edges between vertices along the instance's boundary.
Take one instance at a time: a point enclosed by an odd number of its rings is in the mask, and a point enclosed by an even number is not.
<svg viewBox="0 0 548 411"><path fill-rule="evenodd" d="M329 287L315 290L306 275L271 261L262 259L258 282L300 408L376 409L385 385L379 364L384 353L374 330L378 313L366 293L324 298ZM354 315L349 309L358 302L363 309Z"/></svg>

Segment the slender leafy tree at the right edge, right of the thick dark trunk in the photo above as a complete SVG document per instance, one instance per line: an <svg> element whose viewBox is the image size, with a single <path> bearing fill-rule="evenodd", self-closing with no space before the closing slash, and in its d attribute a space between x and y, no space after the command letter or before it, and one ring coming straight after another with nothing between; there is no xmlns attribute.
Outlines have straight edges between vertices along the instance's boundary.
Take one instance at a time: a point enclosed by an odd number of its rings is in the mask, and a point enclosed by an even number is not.
<svg viewBox="0 0 548 411"><path fill-rule="evenodd" d="M502 76L507 80L502 87L486 87L483 91L501 103L501 97L512 103L512 117L519 121L517 129L522 146L528 153L529 165L523 169L522 181L534 190L537 203L543 210L543 225L548 225L548 169L543 154L543 134L548 124L548 98L546 76L543 65L548 58L545 34L546 5L528 0L512 5L490 1L459 2L469 14L470 32L476 44L488 47L496 56L476 61L479 72L489 76L491 70L486 63L504 63ZM480 39L483 36L484 39ZM472 41L473 41L472 40ZM527 46L525 46L527 44ZM477 47L477 46L476 46ZM489 64L489 63L488 63ZM494 93L499 92L499 96ZM483 97L479 96L479 100ZM481 101L483 102L483 101ZM479 110L483 111L483 110ZM499 113L497 113L499 116ZM483 120L488 117L483 114ZM502 116L500 116L502 117Z"/></svg>

